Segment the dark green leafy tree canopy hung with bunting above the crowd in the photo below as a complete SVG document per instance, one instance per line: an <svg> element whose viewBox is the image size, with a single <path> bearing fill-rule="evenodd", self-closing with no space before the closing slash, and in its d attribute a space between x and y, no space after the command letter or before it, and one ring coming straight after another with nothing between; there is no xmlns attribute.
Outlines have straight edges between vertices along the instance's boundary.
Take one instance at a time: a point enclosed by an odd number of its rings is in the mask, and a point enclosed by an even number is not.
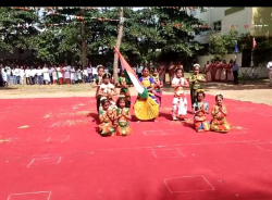
<svg viewBox="0 0 272 200"><path fill-rule="evenodd" d="M195 35L208 27L188 11L124 8L121 52L134 63L191 58L202 48ZM106 63L113 59L119 23L118 8L0 8L0 48L32 49L44 62L82 63L85 53Z"/></svg>

